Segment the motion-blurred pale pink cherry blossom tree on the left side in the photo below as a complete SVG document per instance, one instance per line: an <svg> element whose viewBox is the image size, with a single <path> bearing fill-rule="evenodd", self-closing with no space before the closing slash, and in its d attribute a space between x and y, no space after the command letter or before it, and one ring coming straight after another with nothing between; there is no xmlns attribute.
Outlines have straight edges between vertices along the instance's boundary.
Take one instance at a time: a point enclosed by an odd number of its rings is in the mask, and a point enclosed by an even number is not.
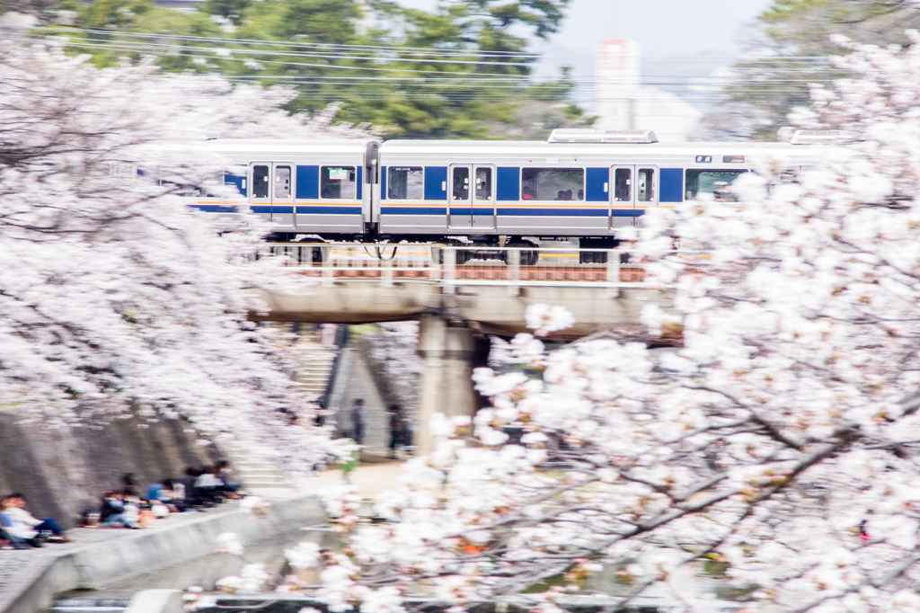
<svg viewBox="0 0 920 613"><path fill-rule="evenodd" d="M238 198L214 182L224 160L207 138L365 127L333 124L335 108L288 116L290 89L156 75L146 61L97 70L53 45L4 43L0 84L4 411L182 417L212 439L316 461L328 433L284 375L284 343L247 321L254 279L297 287L277 262L239 265L270 228L193 214L178 194L210 183ZM309 423L288 427L291 411Z"/></svg>

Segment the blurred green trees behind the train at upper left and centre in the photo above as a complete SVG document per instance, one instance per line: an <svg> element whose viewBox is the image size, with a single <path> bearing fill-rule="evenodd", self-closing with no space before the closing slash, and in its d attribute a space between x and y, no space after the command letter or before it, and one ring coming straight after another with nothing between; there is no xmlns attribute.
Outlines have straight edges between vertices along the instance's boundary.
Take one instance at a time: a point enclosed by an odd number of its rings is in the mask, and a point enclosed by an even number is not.
<svg viewBox="0 0 920 613"><path fill-rule="evenodd" d="M59 0L53 8L75 10L69 25L103 30L60 29L100 66L150 50L168 71L293 84L301 95L290 111L339 102L339 119L373 123L391 137L489 138L588 123L565 103L569 75L533 85L535 57L522 54L522 34L555 32L568 2L442 0L431 12L391 0L207 0L194 14L150 0ZM129 36L139 33L171 36Z"/></svg>

